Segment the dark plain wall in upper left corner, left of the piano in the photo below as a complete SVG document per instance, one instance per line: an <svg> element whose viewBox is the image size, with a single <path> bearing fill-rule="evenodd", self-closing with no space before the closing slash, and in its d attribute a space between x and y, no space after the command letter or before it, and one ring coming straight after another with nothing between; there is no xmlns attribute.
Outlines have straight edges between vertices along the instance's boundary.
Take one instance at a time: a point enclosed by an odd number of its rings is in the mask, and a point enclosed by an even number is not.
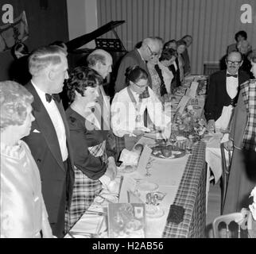
<svg viewBox="0 0 256 254"><path fill-rule="evenodd" d="M47 8L44 10L41 8L41 4L45 2ZM29 38L25 40L25 44L28 45L29 50L49 44L54 40L68 40L65 0L0 0L0 11L6 3L14 6L14 18L25 10L29 24ZM2 18L0 19L1 25L3 25ZM8 79L8 68L12 60L10 51L0 52L0 80Z"/></svg>

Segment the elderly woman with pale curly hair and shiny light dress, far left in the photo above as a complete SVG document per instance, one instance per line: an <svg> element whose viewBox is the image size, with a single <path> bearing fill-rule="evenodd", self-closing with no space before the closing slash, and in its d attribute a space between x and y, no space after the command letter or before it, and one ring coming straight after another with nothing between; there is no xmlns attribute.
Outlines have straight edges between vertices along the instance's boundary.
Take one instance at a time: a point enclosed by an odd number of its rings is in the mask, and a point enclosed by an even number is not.
<svg viewBox="0 0 256 254"><path fill-rule="evenodd" d="M29 147L34 120L33 95L13 81L0 82L1 195L0 236L4 238L52 237L41 178Z"/></svg>

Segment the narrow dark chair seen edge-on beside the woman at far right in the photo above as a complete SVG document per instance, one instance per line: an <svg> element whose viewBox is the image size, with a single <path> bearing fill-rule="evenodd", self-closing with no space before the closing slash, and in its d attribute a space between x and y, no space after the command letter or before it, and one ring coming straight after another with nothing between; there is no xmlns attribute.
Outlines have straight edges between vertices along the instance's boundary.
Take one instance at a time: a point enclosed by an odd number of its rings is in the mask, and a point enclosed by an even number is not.
<svg viewBox="0 0 256 254"><path fill-rule="evenodd" d="M226 159L225 150L227 149L224 147L224 144L220 144L220 152L221 152L221 163L222 163L222 177L221 177L221 203L220 203L220 214L223 214L223 206L226 198L227 193L227 184L229 179L229 172L231 168L231 151L228 150L228 160ZM228 164L227 164L228 161Z"/></svg>

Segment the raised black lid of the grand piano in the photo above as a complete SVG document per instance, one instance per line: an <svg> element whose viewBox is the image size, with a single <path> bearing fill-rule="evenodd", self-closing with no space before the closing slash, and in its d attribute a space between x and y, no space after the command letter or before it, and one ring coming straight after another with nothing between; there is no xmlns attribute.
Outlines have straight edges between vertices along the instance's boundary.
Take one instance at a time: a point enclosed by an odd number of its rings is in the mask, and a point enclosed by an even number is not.
<svg viewBox="0 0 256 254"><path fill-rule="evenodd" d="M84 44L89 43L91 40L95 40L97 37L100 37L104 33L107 33L111 30L114 32L115 37L117 37L117 39L120 40L120 38L118 37L118 34L115 32L114 29L116 27L118 27L118 25L122 25L123 23L125 23L125 21L110 21L106 25L101 26L99 29L96 29L95 31L93 31L91 33L86 33L80 37L76 37L73 40L69 40L66 43L68 52L72 52L76 48L82 47ZM120 42L122 44L121 40L120 40ZM122 45L122 47L123 47L123 45Z"/></svg>

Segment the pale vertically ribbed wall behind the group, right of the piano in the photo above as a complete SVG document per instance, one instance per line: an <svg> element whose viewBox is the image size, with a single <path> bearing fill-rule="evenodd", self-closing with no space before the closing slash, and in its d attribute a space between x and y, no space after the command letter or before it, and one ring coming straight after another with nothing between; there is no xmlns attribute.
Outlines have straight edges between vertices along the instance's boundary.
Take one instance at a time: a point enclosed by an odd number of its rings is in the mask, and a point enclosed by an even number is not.
<svg viewBox="0 0 256 254"><path fill-rule="evenodd" d="M242 4L252 7L252 24L240 21ZM204 62L219 61L239 30L248 33L256 48L255 0L98 0L99 26L111 20L126 21L116 31L127 50L145 37L167 41L191 34L194 41L188 52L193 73L203 73ZM113 33L105 37L112 38Z"/></svg>

